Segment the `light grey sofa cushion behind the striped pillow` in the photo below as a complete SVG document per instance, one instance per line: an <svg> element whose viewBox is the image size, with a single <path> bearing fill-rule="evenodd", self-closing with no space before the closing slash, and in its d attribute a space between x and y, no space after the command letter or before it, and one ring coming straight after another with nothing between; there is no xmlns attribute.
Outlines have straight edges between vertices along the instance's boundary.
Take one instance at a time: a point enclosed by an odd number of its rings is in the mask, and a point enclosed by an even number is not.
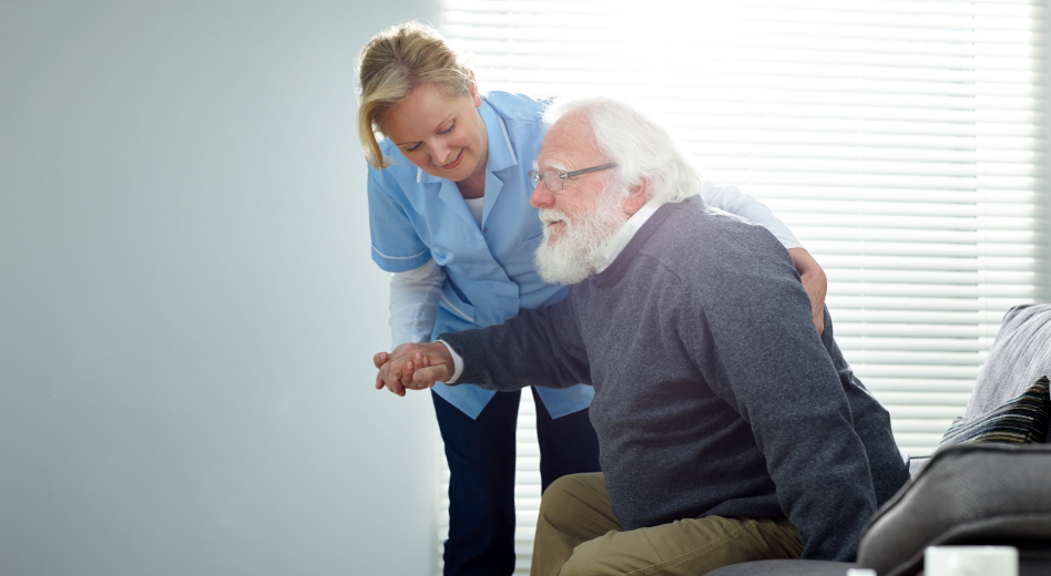
<svg viewBox="0 0 1051 576"><path fill-rule="evenodd" d="M1044 374L1051 374L1051 305L1016 306L1003 315L963 418L992 411Z"/></svg>

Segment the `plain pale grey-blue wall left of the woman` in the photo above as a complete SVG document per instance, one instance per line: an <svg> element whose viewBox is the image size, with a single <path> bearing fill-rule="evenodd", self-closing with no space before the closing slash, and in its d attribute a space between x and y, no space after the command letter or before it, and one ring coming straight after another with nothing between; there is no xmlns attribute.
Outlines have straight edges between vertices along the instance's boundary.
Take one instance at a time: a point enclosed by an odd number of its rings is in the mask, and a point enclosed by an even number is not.
<svg viewBox="0 0 1051 576"><path fill-rule="evenodd" d="M0 574L429 574L353 62L435 0L0 2Z"/></svg>

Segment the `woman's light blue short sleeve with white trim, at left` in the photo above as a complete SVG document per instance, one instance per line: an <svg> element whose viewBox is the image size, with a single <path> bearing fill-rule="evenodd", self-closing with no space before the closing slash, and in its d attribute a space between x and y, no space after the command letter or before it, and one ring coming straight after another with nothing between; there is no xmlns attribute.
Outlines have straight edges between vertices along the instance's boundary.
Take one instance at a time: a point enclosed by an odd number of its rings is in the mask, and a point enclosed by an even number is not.
<svg viewBox="0 0 1051 576"><path fill-rule="evenodd" d="M430 248L420 240L405 206L368 169L368 225L373 261L388 272L414 270L430 260Z"/></svg>

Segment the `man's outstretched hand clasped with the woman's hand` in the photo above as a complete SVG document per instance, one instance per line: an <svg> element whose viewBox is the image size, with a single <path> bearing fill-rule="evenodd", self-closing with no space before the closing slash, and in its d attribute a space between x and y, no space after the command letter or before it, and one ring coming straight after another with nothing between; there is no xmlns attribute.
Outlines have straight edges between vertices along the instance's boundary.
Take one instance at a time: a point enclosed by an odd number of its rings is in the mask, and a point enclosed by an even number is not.
<svg viewBox="0 0 1051 576"><path fill-rule="evenodd" d="M452 354L441 342L405 343L389 354L374 356L373 364L379 370L376 390L387 387L401 397L406 390L426 390L435 382L449 380L456 372Z"/></svg>

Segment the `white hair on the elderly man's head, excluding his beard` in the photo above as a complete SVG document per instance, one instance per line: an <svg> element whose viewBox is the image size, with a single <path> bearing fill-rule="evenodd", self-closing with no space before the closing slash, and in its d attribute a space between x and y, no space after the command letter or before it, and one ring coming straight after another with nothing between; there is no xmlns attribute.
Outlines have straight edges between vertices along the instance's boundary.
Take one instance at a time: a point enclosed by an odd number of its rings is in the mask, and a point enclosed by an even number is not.
<svg viewBox="0 0 1051 576"><path fill-rule="evenodd" d="M660 202L682 202L701 194L701 176L671 134L639 107L606 96L559 99L544 109L543 121L551 126L578 112L590 121L599 148L616 163L610 184L625 195L643 181L650 198Z"/></svg>

